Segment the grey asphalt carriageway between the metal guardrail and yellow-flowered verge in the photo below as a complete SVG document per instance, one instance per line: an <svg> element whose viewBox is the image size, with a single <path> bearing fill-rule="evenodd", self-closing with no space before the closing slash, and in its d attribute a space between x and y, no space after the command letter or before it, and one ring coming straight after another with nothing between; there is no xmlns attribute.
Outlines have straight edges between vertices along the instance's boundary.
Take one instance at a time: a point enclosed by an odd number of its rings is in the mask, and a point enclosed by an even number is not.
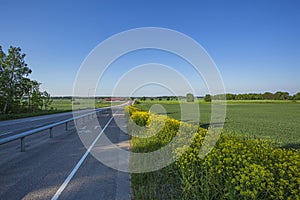
<svg viewBox="0 0 300 200"><path fill-rule="evenodd" d="M1 145L0 199L130 199L130 174L107 167L88 151L129 149L130 137L120 129L126 126L123 110L102 111L98 121L100 126L80 122L78 129L71 124L68 131L57 127L51 139L48 131L26 137L26 152L20 152L19 141ZM90 139L87 147L83 134ZM100 142L105 136L113 145Z"/></svg>

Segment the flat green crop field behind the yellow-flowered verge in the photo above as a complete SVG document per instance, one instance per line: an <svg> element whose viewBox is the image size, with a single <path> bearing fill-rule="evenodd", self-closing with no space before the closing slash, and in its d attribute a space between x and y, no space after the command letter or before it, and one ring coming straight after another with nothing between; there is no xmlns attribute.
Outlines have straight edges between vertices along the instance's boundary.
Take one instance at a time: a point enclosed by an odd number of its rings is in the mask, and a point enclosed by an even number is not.
<svg viewBox="0 0 300 200"><path fill-rule="evenodd" d="M162 105L169 117L180 120L180 104L172 101L141 101L136 107L149 110L153 104ZM207 128L211 105L200 102L200 126ZM191 119L193 112L191 111ZM247 134L272 139L284 147L300 146L300 104L284 101L228 101L225 132Z"/></svg>

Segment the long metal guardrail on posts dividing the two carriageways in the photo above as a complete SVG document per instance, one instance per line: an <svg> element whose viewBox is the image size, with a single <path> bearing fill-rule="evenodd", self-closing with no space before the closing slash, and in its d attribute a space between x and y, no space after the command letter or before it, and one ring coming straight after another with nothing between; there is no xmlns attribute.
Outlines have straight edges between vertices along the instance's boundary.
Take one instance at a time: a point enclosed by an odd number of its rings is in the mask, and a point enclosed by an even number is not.
<svg viewBox="0 0 300 200"><path fill-rule="evenodd" d="M125 104L129 104L129 102L121 104L121 105L117 105L117 106L112 106L112 107L119 107L119 106L122 106L122 105L125 105ZM32 130L25 131L23 133L19 133L19 134L16 134L16 135L5 137L3 139L0 139L0 145L20 139L21 140L21 152L24 152L25 151L25 137L28 137L28 136L33 135L35 133L39 133L41 131L49 129L50 138L53 138L52 129L54 127L65 124L65 130L67 131L69 122L80 119L80 118L84 119L84 117L88 117L88 119L89 119L90 116L91 117L94 117L95 115L97 116L98 112L103 111L103 110L107 110L107 109L112 108L112 107L98 108L98 109L96 109L92 112L89 112L89 113L86 113L86 114L83 114L83 115L80 115L80 116L77 116L77 117L72 117L70 119L55 122L55 123L48 124L48 125L45 125L45 126L42 126L42 127L38 127L38 128L32 129Z"/></svg>

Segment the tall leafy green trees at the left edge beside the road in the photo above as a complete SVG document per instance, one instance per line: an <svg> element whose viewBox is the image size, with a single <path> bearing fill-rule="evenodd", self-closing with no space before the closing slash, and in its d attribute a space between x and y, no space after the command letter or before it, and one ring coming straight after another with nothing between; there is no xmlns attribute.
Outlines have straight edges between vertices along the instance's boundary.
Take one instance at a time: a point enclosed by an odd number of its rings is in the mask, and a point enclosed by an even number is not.
<svg viewBox="0 0 300 200"><path fill-rule="evenodd" d="M31 80L32 70L25 62L21 48L10 46L7 54L0 46L0 113L36 112L48 110L52 103L41 83Z"/></svg>

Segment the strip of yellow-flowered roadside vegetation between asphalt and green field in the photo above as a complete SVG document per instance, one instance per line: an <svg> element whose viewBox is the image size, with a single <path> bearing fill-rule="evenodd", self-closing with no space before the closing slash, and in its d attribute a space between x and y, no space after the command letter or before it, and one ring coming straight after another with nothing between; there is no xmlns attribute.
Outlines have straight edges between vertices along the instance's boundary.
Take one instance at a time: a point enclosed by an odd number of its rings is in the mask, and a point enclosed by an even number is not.
<svg viewBox="0 0 300 200"><path fill-rule="evenodd" d="M150 152L169 143L176 134L185 135L177 133L178 124L185 122L167 118L156 133L149 128L150 119L158 123L165 118L150 118L147 111L133 106L127 108L127 113L134 123L148 127L139 134L152 135L132 137L133 152ZM130 123L128 131L135 132ZM199 127L191 145L175 163L158 171L132 174L133 199L299 199L298 149L225 130L213 150L201 158L199 149L207 134L206 129ZM174 155L180 152L180 148L173 149ZM131 160L132 164L135 162L142 161Z"/></svg>

